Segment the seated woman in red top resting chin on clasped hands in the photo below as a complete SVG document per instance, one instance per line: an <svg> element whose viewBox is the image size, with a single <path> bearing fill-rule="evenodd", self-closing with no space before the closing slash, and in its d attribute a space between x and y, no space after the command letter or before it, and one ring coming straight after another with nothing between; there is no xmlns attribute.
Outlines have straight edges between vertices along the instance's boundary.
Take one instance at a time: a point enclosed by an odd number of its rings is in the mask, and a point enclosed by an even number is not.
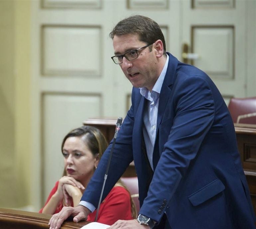
<svg viewBox="0 0 256 229"><path fill-rule="evenodd" d="M63 206L78 205L107 145L104 135L95 127L81 126L71 130L62 142L64 176L56 182L39 212L55 214ZM95 221L95 216L96 210L87 220ZM97 222L112 225L118 219L133 218L136 218L136 208L131 195L118 182L100 204Z"/></svg>

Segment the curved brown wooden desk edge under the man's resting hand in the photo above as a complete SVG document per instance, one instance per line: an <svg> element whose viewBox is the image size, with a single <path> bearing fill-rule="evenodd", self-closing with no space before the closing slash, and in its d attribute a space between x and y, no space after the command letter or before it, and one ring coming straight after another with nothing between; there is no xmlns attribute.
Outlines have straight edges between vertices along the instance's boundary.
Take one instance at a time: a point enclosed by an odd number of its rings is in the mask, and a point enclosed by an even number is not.
<svg viewBox="0 0 256 229"><path fill-rule="evenodd" d="M52 215L37 212L19 211L0 208L0 228L4 229L49 229L48 223ZM80 229L89 222L74 223L67 220L61 229Z"/></svg>

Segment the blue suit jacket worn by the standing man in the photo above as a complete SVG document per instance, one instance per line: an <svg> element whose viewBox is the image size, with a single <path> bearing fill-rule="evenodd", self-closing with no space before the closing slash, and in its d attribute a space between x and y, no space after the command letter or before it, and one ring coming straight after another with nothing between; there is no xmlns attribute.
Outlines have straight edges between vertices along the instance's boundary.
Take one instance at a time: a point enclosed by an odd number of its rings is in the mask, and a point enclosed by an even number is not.
<svg viewBox="0 0 256 229"><path fill-rule="evenodd" d="M166 213L172 229L255 228L234 125L221 94L204 72L168 55L153 178L143 153L145 98L133 88L132 106L116 139L103 198L134 160L141 214L159 222ZM82 197L94 206L111 147L112 143Z"/></svg>

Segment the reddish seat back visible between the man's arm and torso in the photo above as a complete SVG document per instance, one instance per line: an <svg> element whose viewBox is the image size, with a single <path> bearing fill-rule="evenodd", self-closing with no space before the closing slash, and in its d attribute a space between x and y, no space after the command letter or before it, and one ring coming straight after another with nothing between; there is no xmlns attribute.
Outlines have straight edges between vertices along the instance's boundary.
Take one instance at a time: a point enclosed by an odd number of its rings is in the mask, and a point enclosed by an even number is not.
<svg viewBox="0 0 256 229"><path fill-rule="evenodd" d="M140 210L138 178L137 177L121 177L121 181L130 191L132 199L137 209L137 213L138 213Z"/></svg>

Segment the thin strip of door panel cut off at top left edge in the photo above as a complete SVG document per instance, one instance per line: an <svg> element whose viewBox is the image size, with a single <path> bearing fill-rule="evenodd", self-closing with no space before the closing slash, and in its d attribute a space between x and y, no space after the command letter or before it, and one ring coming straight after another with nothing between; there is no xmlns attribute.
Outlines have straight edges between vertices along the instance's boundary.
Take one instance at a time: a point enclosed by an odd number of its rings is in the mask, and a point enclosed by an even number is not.
<svg viewBox="0 0 256 229"><path fill-rule="evenodd" d="M101 0L42 0L42 8L100 9Z"/></svg>

